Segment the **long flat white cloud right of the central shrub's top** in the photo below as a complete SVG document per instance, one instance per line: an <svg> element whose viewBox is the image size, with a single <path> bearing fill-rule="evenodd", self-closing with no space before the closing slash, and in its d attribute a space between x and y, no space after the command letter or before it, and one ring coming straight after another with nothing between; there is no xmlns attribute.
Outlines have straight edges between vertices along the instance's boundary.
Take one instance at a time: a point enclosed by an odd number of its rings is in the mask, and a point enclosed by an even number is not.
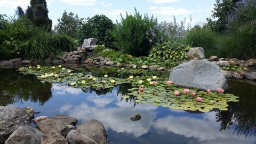
<svg viewBox="0 0 256 144"><path fill-rule="evenodd" d="M151 13L153 14L162 14L162 15L186 15L193 13L193 10L179 8L176 9L175 7L168 7L168 6L151 6L149 7Z"/></svg>

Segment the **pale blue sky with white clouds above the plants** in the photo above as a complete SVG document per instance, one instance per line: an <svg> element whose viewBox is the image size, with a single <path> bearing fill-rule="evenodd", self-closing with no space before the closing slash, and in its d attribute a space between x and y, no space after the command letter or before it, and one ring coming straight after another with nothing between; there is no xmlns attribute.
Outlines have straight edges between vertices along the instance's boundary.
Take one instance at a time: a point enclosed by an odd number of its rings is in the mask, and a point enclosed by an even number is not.
<svg viewBox="0 0 256 144"><path fill-rule="evenodd" d="M13 15L17 6L26 10L30 0L0 0L0 13ZM95 14L105 14L109 19L116 22L120 13L123 15L134 12L134 7L140 13L148 13L157 17L158 22L172 22L173 16L177 22L193 19L192 25L202 24L207 17L210 17L215 0L47 0L49 17L53 25L58 23L58 18L64 10L78 14L79 18L93 17Z"/></svg>

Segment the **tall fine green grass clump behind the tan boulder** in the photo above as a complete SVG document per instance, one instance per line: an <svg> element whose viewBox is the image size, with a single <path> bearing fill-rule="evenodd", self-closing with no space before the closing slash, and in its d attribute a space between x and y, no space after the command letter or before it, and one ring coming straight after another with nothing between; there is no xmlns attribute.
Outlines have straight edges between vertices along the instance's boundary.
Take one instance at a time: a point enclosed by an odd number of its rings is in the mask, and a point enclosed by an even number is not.
<svg viewBox="0 0 256 144"><path fill-rule="evenodd" d="M195 26L188 31L186 39L187 44L191 47L203 47L205 58L217 54L218 35L209 27Z"/></svg>

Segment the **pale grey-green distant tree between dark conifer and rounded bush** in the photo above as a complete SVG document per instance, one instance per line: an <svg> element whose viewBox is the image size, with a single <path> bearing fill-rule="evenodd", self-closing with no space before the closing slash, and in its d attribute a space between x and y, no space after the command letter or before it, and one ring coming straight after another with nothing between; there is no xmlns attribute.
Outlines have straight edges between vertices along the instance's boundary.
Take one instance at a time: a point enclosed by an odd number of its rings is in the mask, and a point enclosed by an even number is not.
<svg viewBox="0 0 256 144"><path fill-rule="evenodd" d="M54 27L54 30L60 34L67 34L73 38L77 38L77 31L79 29L79 18L78 15L66 11L63 12L61 19L58 19L57 26Z"/></svg>

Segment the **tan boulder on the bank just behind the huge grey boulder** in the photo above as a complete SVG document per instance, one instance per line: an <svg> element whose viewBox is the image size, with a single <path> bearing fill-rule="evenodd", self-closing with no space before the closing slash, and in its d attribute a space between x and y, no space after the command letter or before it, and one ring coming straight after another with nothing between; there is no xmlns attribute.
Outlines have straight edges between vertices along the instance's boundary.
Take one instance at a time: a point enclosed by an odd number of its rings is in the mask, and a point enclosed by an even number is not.
<svg viewBox="0 0 256 144"><path fill-rule="evenodd" d="M188 52L188 59L204 59L204 49L202 47L192 47Z"/></svg>

